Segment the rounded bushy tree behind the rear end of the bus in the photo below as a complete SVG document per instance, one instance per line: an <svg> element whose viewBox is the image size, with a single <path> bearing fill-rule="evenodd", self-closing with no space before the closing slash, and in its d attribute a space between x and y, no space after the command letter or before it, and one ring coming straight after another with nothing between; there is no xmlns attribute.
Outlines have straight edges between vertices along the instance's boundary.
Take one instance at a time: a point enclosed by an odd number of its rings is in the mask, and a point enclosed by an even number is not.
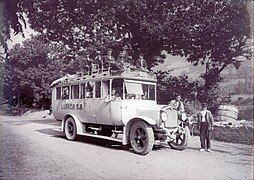
<svg viewBox="0 0 254 180"><path fill-rule="evenodd" d="M67 62L66 62L67 61ZM68 51L61 44L50 43L38 35L15 45L5 64L4 92L26 106L36 102L48 105L50 84L61 75L75 71L69 64Z"/></svg>

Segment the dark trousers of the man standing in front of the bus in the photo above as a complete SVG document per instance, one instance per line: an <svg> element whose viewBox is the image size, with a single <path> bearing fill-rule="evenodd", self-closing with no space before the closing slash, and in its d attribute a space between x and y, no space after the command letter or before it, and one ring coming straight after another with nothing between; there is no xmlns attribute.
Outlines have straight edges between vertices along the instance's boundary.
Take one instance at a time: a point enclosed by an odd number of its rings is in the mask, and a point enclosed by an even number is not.
<svg viewBox="0 0 254 180"><path fill-rule="evenodd" d="M211 130L208 130L208 123L201 122L200 125L200 141L201 141L201 148L207 149L211 148Z"/></svg>

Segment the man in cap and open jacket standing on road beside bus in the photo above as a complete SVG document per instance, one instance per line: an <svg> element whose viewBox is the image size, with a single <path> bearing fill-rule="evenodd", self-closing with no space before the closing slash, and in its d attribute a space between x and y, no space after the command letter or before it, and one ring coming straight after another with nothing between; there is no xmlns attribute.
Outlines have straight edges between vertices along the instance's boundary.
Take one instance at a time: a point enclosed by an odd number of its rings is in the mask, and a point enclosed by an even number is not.
<svg viewBox="0 0 254 180"><path fill-rule="evenodd" d="M207 109L207 103L202 104L202 110L198 114L197 128L200 132L201 149L200 152L205 151L207 148L208 152L211 151L211 131L213 130L213 115Z"/></svg>

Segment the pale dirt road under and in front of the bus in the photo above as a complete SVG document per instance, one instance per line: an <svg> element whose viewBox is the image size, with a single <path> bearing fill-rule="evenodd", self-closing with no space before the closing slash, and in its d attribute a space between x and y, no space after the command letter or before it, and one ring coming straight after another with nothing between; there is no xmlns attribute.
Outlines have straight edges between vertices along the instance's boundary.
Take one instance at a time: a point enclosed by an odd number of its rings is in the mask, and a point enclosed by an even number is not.
<svg viewBox="0 0 254 180"><path fill-rule="evenodd" d="M0 179L253 179L252 147L199 139L176 151L155 147L147 156L120 144L81 137L67 141L52 129L60 123L43 113L0 116Z"/></svg>

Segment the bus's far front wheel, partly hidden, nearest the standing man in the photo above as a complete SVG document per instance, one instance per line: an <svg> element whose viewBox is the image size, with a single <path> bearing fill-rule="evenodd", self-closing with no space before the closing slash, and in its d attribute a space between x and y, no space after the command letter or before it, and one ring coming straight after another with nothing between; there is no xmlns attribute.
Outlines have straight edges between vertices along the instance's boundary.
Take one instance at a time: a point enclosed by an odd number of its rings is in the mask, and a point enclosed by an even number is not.
<svg viewBox="0 0 254 180"><path fill-rule="evenodd" d="M186 126L184 128L184 132L181 132L181 133L179 131L176 132L176 138L173 141L169 142L168 145L172 149L183 150L187 147L189 136L190 136L190 130Z"/></svg>

